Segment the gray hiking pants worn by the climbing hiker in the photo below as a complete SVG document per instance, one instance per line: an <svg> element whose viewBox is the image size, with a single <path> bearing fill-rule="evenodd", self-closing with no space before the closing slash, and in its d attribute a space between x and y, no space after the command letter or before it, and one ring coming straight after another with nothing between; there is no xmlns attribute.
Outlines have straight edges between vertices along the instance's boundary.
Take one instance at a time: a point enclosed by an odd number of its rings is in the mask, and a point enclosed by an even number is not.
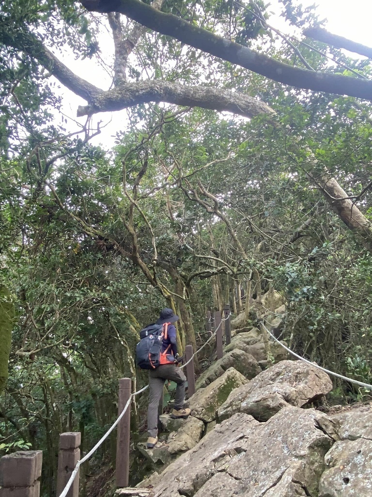
<svg viewBox="0 0 372 497"><path fill-rule="evenodd" d="M149 371L149 404L147 411L147 429L149 435L158 435L158 409L165 380L177 383L175 409L182 409L185 402L186 376L176 364L163 364Z"/></svg>

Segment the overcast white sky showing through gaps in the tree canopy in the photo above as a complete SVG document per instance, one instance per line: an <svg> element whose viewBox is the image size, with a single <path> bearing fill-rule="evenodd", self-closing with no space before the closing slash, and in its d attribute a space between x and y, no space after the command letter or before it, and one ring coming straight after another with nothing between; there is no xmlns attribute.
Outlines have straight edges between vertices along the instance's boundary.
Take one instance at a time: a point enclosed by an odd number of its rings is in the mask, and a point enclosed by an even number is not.
<svg viewBox="0 0 372 497"><path fill-rule="evenodd" d="M316 0L303 0L303 5L311 5ZM320 18L327 18L327 29L340 36L345 36L353 41L363 43L364 45L372 46L372 0L318 0L318 12ZM276 10L277 0L271 0L272 10ZM270 18L270 24L277 27L283 32L286 32L286 25L283 18ZM288 32L288 29L287 29ZM108 39L105 44L101 44L102 57L110 64L113 53L113 46ZM108 89L111 80L107 73L97 66L95 60L86 59L85 61L74 61L71 55L65 52L56 54L62 59L72 71L94 83L103 89ZM357 57L357 56L355 56ZM84 118L75 118L78 105L85 105L86 102L72 94L69 90L62 88L63 95L63 112L84 123ZM102 113L94 116L94 122L102 121L103 124L109 123L102 130L102 133L94 138L91 143L94 145L102 144L105 149L111 148L114 145L114 136L116 131L125 130L126 128L126 112L125 110L114 112L112 114ZM68 123L68 129L76 129L76 125L72 122Z"/></svg>

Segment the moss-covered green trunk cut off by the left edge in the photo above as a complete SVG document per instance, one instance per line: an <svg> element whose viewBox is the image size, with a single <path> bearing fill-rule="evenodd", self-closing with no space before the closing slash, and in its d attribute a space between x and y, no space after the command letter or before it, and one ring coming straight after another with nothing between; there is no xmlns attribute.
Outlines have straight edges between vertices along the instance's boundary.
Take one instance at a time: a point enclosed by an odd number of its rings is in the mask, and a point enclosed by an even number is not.
<svg viewBox="0 0 372 497"><path fill-rule="evenodd" d="M9 290L0 285L0 394L8 378L8 362L11 344L11 331L14 322L14 304Z"/></svg>

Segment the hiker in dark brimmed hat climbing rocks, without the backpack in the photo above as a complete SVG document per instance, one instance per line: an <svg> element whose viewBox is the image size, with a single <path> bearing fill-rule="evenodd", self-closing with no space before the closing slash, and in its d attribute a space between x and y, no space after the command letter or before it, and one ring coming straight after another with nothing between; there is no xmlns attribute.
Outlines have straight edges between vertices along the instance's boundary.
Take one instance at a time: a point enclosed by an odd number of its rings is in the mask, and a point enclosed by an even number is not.
<svg viewBox="0 0 372 497"><path fill-rule="evenodd" d="M160 313L157 325L163 325L163 341L161 348L161 364L149 371L149 405L147 411L147 448L152 449L158 441L158 408L166 380L177 383L176 399L171 417L186 418L191 411L184 408L186 376L177 366L183 363L183 358L177 351L176 323L180 318L172 309L165 308Z"/></svg>

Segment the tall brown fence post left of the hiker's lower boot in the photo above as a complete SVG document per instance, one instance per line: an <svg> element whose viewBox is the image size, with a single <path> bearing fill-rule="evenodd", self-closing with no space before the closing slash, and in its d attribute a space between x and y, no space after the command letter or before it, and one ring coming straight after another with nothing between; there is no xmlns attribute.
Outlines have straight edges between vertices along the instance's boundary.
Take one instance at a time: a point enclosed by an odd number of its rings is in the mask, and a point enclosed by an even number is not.
<svg viewBox="0 0 372 497"><path fill-rule="evenodd" d="M121 378L119 380L119 406L118 414L130 399L131 380ZM118 440L116 446L116 486L127 487L129 484L129 440L130 440L130 404L124 416L118 424Z"/></svg>

